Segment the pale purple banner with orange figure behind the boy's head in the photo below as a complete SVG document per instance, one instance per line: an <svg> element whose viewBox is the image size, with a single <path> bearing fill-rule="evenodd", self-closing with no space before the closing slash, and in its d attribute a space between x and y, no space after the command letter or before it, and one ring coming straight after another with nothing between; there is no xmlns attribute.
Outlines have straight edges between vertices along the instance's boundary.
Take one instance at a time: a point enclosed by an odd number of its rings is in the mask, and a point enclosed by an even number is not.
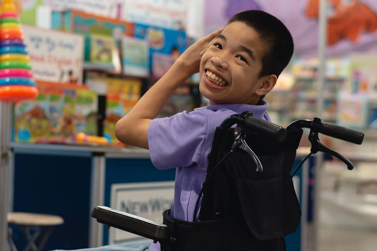
<svg viewBox="0 0 377 251"><path fill-rule="evenodd" d="M205 0L205 34L224 27L244 10L268 12L288 27L299 57L316 57L319 0ZM377 1L328 0L328 56L377 51Z"/></svg>

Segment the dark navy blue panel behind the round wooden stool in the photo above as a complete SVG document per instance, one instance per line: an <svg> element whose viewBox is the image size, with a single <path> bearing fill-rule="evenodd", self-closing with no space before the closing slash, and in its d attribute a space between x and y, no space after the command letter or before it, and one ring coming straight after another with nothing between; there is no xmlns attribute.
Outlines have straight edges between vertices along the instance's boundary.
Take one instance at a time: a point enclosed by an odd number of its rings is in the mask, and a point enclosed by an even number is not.
<svg viewBox="0 0 377 251"><path fill-rule="evenodd" d="M90 168L91 158L15 155L14 211L56 214L64 219L44 250L88 247ZM18 250L25 248L25 239L14 228Z"/></svg>

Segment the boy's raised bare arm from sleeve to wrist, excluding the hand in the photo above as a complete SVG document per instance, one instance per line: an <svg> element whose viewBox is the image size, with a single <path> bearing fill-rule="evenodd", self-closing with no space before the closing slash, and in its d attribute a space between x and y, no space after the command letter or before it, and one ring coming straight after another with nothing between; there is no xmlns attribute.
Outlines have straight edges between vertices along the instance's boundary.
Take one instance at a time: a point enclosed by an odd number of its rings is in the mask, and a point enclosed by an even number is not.
<svg viewBox="0 0 377 251"><path fill-rule="evenodd" d="M147 130L150 121L156 118L170 96L190 75L184 70L184 62L178 59L132 110L116 123L116 137L125 144L148 148Z"/></svg>

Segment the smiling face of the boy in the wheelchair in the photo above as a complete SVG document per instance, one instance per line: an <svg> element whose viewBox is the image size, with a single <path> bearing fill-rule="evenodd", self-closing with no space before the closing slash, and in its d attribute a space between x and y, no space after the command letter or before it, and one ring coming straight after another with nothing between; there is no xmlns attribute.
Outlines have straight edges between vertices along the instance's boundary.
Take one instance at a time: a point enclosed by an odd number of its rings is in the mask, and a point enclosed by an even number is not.
<svg viewBox="0 0 377 251"><path fill-rule="evenodd" d="M228 24L202 56L202 95L210 104L257 104L260 96L255 92L264 80L259 78L264 51L253 28L239 21Z"/></svg>

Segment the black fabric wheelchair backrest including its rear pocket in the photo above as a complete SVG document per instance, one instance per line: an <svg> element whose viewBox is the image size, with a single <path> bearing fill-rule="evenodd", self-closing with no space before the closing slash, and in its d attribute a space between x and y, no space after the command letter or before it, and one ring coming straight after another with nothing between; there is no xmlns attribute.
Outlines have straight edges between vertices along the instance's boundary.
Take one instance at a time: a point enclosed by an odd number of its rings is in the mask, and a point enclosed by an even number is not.
<svg viewBox="0 0 377 251"><path fill-rule="evenodd" d="M207 182L201 203L200 220L237 215L250 233L259 240L282 238L296 231L301 210L290 171L302 136L301 129L290 130L282 142L247 134L247 143L256 153L263 172L244 151L231 153L233 130L216 129L207 170Z"/></svg>

